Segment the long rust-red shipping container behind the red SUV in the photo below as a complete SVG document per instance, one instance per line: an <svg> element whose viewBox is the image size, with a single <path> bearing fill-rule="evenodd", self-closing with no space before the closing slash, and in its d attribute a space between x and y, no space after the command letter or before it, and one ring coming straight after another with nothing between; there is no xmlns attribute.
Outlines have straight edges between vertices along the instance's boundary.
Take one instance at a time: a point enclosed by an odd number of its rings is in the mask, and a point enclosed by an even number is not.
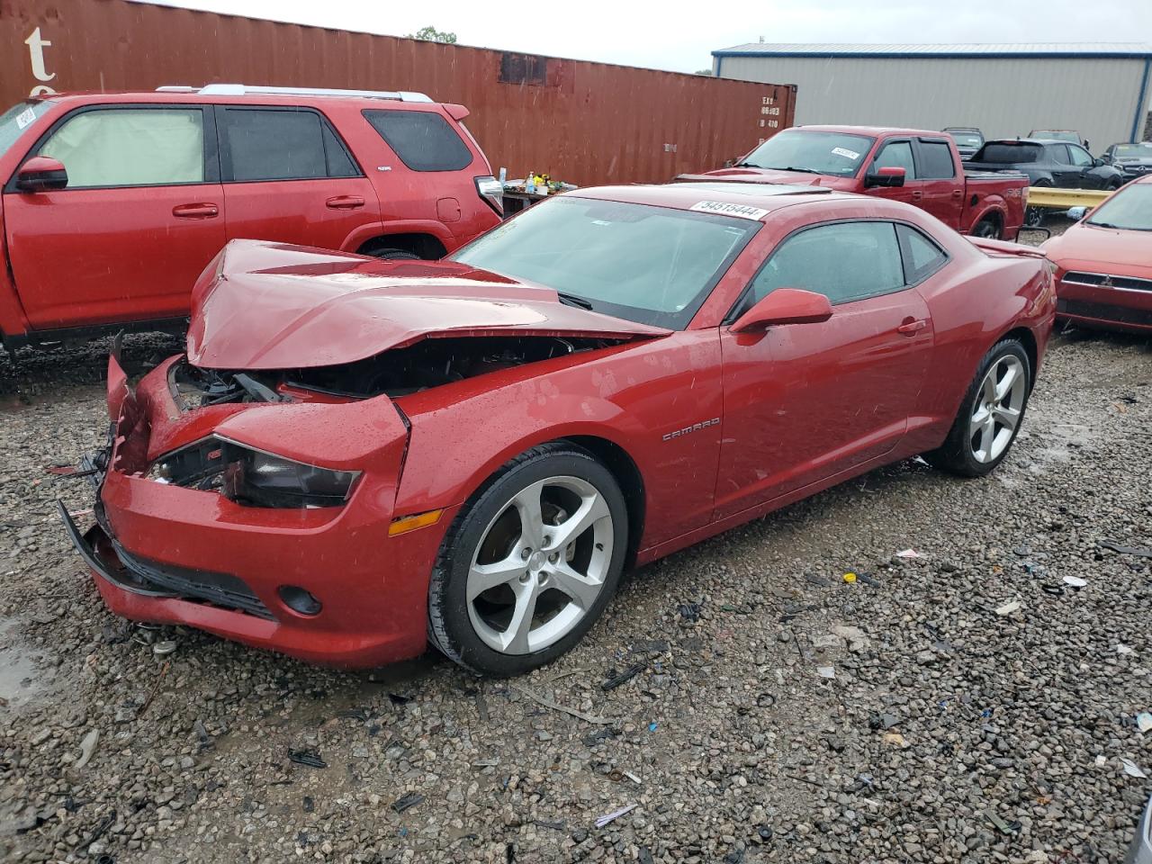
<svg viewBox="0 0 1152 864"><path fill-rule="evenodd" d="M0 111L165 84L416 90L471 109L493 168L581 185L719 167L791 126L796 89L175 9L0 0Z"/></svg>

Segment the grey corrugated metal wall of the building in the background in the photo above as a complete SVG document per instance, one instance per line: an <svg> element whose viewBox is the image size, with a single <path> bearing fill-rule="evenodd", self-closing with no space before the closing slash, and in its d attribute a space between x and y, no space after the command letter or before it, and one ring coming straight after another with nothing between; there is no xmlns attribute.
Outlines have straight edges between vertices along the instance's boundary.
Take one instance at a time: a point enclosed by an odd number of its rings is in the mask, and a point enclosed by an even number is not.
<svg viewBox="0 0 1152 864"><path fill-rule="evenodd" d="M795 83L796 123L976 126L993 138L1076 129L1094 152L1129 141L1147 69L1140 59L1079 58L726 56L712 62L727 78Z"/></svg>

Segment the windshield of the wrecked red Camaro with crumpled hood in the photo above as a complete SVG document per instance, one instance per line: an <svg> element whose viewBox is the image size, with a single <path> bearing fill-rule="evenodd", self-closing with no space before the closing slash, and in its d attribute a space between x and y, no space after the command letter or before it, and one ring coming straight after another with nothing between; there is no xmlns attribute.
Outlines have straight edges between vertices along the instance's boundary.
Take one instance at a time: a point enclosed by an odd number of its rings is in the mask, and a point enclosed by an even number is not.
<svg viewBox="0 0 1152 864"><path fill-rule="evenodd" d="M682 329L759 227L746 218L566 195L449 259L554 288L571 305Z"/></svg>

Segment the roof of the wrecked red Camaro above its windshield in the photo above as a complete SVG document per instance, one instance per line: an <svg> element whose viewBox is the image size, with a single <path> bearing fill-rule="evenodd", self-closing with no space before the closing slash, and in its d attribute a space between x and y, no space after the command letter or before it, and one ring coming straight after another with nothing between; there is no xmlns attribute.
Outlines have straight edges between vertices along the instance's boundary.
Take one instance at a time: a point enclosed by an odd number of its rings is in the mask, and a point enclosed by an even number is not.
<svg viewBox="0 0 1152 864"><path fill-rule="evenodd" d="M740 207L756 207L765 211L763 215L757 218L757 221L763 221L767 215L778 210L782 210L783 207L813 200L867 200L877 204L894 203L886 202L882 198L873 198L871 196L840 192L828 189L827 187L813 184L728 183L723 181L685 181L681 183L661 184L637 183L634 185L585 187L570 192L564 192L564 197L596 198L599 200L615 200L627 204L647 204L657 207L670 207L673 210L692 210L695 205L704 202L733 204Z"/></svg>

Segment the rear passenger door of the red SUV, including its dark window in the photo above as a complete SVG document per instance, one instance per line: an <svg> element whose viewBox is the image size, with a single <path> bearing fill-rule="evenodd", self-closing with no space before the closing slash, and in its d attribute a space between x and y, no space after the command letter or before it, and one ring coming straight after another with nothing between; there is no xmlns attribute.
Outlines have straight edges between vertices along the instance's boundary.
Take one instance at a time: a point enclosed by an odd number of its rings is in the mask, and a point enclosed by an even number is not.
<svg viewBox="0 0 1152 864"><path fill-rule="evenodd" d="M379 228L372 183L319 112L218 106L217 122L229 240L355 251Z"/></svg>

